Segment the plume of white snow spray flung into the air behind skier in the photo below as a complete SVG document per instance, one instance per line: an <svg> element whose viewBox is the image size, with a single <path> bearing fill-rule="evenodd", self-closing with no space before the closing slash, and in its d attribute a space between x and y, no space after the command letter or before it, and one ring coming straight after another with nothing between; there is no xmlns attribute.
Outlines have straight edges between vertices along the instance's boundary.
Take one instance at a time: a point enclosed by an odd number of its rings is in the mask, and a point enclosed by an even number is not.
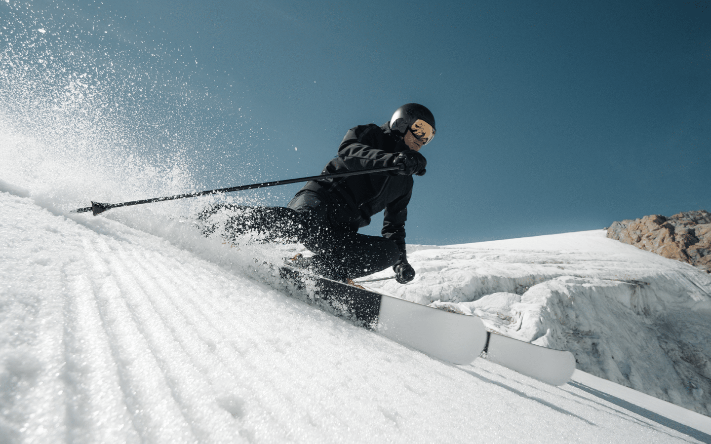
<svg viewBox="0 0 711 444"><path fill-rule="evenodd" d="M92 8L0 1L3 180L57 207L236 180L240 109L187 82L185 51L147 48Z"/></svg>

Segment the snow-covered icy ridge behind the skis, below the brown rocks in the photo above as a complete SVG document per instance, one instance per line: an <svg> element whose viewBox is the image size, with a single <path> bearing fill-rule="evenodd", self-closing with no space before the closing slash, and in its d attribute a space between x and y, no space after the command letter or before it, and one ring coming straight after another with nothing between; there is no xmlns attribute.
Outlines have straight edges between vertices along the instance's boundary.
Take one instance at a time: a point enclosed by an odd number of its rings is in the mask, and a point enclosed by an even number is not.
<svg viewBox="0 0 711 444"><path fill-rule="evenodd" d="M711 277L693 266L607 239L604 230L409 257L413 283L373 286L478 315L505 335L570 350L585 372L711 413Z"/></svg>

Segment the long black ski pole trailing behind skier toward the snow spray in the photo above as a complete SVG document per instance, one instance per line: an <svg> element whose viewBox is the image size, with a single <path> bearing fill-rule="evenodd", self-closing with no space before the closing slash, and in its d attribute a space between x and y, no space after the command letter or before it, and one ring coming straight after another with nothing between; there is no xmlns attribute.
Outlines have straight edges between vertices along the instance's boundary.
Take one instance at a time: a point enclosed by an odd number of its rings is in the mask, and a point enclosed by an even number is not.
<svg viewBox="0 0 711 444"><path fill-rule="evenodd" d="M230 187L230 188L218 188L216 190L198 191L197 193L186 193L186 194L178 194L178 195L165 196L165 197L153 197L152 199L144 199L144 200L132 200L131 202L102 203L102 202L93 202L92 201L90 207L77 208L76 210L73 210L73 212L92 212L93 215L98 215L102 212L105 212L106 210L111 210L112 208L128 207L129 205L141 205L144 203L163 202L164 200L183 199L185 197L197 197L197 196L204 196L204 195L218 194L218 193L232 193L232 191L255 190L256 188L274 187L276 185L287 185L289 183L308 182L309 180L319 180L319 179L328 179L328 178L346 178L351 175L360 175L360 174L368 174L368 173L383 173L385 171L402 170L402 169L405 169L405 164L400 163L399 165L395 165L395 166L382 166L382 167L378 167L378 168L368 168L365 170L346 171L345 173L330 173L330 174L323 174L323 175L311 175L307 178L274 180L273 182L253 183L252 185L240 185L237 187Z"/></svg>

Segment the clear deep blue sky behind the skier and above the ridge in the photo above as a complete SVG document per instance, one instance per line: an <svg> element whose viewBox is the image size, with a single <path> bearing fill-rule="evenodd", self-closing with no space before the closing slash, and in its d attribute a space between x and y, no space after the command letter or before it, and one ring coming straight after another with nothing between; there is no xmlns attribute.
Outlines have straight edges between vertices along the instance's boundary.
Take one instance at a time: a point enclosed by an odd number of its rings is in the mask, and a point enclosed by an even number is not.
<svg viewBox="0 0 711 444"><path fill-rule="evenodd" d="M225 121L250 126L249 144L235 134L225 148L242 161L220 171L314 175L352 126L383 124L407 102L429 107L437 137L422 150L410 243L711 211L708 1L75 5L161 60L179 60L181 76L227 104ZM299 188L267 203L286 205ZM378 234L380 223L364 232Z"/></svg>

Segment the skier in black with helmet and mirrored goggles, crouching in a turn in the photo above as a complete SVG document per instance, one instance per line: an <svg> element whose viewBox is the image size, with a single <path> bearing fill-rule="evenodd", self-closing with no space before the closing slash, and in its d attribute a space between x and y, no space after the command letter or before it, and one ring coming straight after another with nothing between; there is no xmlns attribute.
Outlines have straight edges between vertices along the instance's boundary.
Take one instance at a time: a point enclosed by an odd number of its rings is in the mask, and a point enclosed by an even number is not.
<svg viewBox="0 0 711 444"><path fill-rule="evenodd" d="M355 126L322 174L402 165L400 170L311 180L289 202L289 210L230 207L242 212L230 218L226 228L235 234L256 228L266 240L296 239L314 255L297 254L287 262L336 281L348 282L392 266L397 282L410 282L415 269L407 262L405 249L407 204L412 175L424 175L427 165L419 150L435 132L432 112L416 103L402 105L383 126ZM382 237L358 233L383 210Z"/></svg>

